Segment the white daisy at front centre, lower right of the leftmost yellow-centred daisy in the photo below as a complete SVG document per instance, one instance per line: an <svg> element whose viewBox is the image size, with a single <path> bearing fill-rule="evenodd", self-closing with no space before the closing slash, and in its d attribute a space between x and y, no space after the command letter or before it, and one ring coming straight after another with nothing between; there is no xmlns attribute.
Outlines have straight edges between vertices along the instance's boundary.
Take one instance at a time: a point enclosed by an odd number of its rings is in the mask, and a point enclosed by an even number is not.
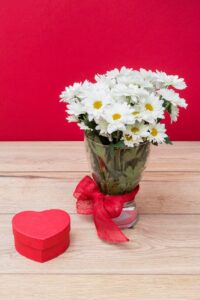
<svg viewBox="0 0 200 300"><path fill-rule="evenodd" d="M107 107L102 117L108 122L108 133L126 130L125 124L133 121L131 113L132 109L126 103L114 103Z"/></svg>

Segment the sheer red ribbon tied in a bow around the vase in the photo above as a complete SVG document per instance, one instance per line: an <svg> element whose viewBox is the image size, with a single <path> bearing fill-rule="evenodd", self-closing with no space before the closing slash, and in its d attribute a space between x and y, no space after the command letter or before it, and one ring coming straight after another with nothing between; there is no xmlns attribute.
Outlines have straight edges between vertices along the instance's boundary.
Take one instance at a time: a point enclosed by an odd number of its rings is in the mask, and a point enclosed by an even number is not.
<svg viewBox="0 0 200 300"><path fill-rule="evenodd" d="M93 215L96 230L100 239L123 243L129 239L122 233L112 218L118 217L125 202L133 201L139 185L130 193L111 196L100 192L96 182L85 176L77 185L74 197L77 199L76 210L78 214Z"/></svg>

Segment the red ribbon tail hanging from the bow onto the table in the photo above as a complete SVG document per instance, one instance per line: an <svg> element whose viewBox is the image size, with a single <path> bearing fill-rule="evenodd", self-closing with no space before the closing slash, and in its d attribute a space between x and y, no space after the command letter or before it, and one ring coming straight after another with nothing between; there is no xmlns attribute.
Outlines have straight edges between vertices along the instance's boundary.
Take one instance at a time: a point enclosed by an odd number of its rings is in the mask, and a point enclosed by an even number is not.
<svg viewBox="0 0 200 300"><path fill-rule="evenodd" d="M104 209L103 202L97 200L95 201L95 206L96 209L94 209L93 217L99 238L110 243L128 242L129 239L123 234Z"/></svg>

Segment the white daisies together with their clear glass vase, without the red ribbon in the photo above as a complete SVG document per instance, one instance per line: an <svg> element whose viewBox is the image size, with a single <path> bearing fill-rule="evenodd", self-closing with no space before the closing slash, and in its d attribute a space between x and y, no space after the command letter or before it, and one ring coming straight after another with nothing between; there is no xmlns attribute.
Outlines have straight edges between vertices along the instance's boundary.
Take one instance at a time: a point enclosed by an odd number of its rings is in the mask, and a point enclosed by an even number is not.
<svg viewBox="0 0 200 300"><path fill-rule="evenodd" d="M185 88L177 75L125 67L65 88L60 97L67 103L67 120L85 131L92 176L101 193L120 196L137 188L150 144L171 143L162 121L166 113L177 121L179 108L187 107L175 91ZM136 219L134 197L113 218L122 228L132 227Z"/></svg>

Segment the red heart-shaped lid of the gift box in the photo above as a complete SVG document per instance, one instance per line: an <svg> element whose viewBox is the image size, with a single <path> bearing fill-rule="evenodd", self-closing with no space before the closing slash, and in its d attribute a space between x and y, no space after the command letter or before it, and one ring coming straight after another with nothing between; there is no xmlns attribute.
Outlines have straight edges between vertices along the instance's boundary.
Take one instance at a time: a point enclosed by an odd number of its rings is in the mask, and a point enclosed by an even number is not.
<svg viewBox="0 0 200 300"><path fill-rule="evenodd" d="M70 216L60 209L22 211L12 219L15 240L44 250L69 239Z"/></svg>

